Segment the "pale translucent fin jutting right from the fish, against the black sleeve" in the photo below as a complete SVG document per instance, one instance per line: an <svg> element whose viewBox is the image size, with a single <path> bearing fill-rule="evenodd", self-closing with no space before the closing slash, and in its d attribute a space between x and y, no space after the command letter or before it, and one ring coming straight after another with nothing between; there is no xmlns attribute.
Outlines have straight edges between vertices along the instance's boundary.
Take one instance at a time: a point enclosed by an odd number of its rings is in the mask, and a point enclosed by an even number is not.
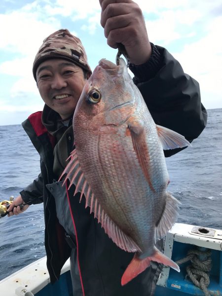
<svg viewBox="0 0 222 296"><path fill-rule="evenodd" d="M184 136L169 128L156 125L157 133L164 150L191 146Z"/></svg>

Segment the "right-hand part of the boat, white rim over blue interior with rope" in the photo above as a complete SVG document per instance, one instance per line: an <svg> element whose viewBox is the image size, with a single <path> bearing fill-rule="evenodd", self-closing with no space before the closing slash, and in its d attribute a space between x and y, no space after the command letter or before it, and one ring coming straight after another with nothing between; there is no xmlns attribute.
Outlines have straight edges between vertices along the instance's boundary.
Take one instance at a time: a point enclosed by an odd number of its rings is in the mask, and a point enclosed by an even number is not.
<svg viewBox="0 0 222 296"><path fill-rule="evenodd" d="M222 295L222 230L175 223L166 235L164 254L181 271L163 267L156 296Z"/></svg>

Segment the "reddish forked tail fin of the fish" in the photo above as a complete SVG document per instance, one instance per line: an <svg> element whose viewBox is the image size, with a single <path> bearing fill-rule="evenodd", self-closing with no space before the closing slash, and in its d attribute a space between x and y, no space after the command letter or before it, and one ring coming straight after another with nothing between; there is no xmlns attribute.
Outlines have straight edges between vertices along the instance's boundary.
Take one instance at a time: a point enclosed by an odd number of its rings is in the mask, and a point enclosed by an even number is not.
<svg viewBox="0 0 222 296"><path fill-rule="evenodd" d="M130 282L132 279L138 276L141 272L143 272L150 265L150 261L162 263L180 272L180 267L177 265L177 263L166 257L164 254L162 254L159 250L155 248L154 254L145 259L140 259L138 255L135 254L134 258L129 263L125 272L123 273L121 285L126 285L128 282Z"/></svg>

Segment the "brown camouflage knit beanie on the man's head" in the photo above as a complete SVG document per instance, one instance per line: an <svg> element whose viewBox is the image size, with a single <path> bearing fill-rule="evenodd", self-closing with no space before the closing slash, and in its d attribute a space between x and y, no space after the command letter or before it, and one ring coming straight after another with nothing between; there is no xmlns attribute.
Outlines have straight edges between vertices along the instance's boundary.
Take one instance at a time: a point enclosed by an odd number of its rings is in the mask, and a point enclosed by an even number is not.
<svg viewBox="0 0 222 296"><path fill-rule="evenodd" d="M80 39L72 35L67 29L56 31L43 40L33 63L35 80L37 80L36 71L38 66L48 59L55 58L71 61L92 74Z"/></svg>

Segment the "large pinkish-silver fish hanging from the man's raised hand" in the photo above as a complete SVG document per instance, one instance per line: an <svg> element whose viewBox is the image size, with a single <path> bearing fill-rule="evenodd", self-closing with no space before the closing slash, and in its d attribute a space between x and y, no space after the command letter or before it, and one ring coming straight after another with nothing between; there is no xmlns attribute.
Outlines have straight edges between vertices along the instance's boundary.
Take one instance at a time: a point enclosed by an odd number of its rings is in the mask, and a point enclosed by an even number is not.
<svg viewBox="0 0 222 296"><path fill-rule="evenodd" d="M150 261L180 271L156 247L176 222L179 201L167 191L163 149L190 146L156 125L125 61L100 60L73 117L75 148L60 180L85 196L86 207L122 250L135 253L121 279L127 284ZM65 179L64 179L65 178Z"/></svg>

